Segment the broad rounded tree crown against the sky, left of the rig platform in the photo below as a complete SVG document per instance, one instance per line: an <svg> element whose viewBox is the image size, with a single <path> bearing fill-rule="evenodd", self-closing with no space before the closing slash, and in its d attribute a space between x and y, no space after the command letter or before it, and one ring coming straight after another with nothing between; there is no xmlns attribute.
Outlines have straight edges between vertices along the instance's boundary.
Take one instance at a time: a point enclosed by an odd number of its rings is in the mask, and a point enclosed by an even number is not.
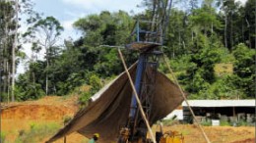
<svg viewBox="0 0 256 143"><path fill-rule="evenodd" d="M84 33L87 45L124 44L133 25L131 17L123 12L110 14L107 11L99 15L90 15L78 20L74 26Z"/></svg>

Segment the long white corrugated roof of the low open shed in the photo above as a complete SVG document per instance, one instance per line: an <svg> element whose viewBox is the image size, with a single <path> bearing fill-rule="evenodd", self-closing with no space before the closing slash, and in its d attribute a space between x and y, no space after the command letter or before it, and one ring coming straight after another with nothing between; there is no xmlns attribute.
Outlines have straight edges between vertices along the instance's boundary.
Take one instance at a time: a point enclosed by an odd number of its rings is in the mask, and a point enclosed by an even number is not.
<svg viewBox="0 0 256 143"><path fill-rule="evenodd" d="M188 100L191 107L255 107L255 100ZM185 102L183 107L187 107Z"/></svg>

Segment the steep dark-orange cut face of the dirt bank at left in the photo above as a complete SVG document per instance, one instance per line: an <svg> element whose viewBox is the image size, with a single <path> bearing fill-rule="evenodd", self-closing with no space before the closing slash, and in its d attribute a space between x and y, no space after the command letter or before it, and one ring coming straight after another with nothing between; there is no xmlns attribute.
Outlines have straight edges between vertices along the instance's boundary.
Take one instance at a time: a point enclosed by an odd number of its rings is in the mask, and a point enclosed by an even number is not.
<svg viewBox="0 0 256 143"><path fill-rule="evenodd" d="M73 116L74 110L64 106L17 105L2 111L2 119L43 119L56 120Z"/></svg>

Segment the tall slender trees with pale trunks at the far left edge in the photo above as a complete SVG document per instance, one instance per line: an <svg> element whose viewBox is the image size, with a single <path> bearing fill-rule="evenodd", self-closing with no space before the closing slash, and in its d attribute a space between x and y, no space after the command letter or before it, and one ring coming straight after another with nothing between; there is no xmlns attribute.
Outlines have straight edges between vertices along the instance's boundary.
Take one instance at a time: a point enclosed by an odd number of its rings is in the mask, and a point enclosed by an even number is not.
<svg viewBox="0 0 256 143"><path fill-rule="evenodd" d="M17 11L16 3L9 1L0 1L0 69L3 82L0 83L0 92L8 95L9 91L14 89L14 72L15 72L15 50L17 47L14 41L17 41ZM1 94L4 95L4 94ZM14 101L14 95L12 94Z"/></svg>

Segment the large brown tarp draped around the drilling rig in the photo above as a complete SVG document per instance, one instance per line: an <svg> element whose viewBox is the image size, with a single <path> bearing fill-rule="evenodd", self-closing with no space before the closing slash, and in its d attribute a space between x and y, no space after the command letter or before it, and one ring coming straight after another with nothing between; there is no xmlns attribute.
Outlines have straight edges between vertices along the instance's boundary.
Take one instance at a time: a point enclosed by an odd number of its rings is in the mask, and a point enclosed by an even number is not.
<svg viewBox="0 0 256 143"><path fill-rule="evenodd" d="M129 69L135 77L136 66ZM157 73L156 91L153 95L150 124L166 117L183 101L178 87L164 74ZM116 142L121 127L128 119L132 88L126 72L122 72L111 83L103 87L93 97L93 102L84 110L77 113L64 128L49 139L53 142L74 131L91 138L94 133L99 133L100 143Z"/></svg>

